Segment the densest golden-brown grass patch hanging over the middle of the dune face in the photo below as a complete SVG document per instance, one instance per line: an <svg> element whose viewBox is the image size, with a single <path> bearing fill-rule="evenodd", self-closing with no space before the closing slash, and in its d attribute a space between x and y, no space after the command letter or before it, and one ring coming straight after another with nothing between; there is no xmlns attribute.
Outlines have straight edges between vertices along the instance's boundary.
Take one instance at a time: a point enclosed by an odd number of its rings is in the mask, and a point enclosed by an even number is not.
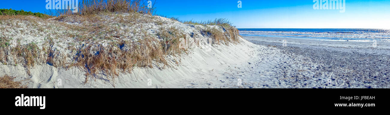
<svg viewBox="0 0 390 115"><path fill-rule="evenodd" d="M89 44L78 51L75 62L68 67L75 66L85 70L85 83L90 77L96 78L96 74L105 74L107 79L113 79L119 75L118 71L131 73L134 67L153 68L153 61L163 64L161 68L164 68L167 65L164 58L166 54L158 42L145 36L137 42L122 41L116 46L95 47L94 44ZM158 67L158 64L154 66Z"/></svg>

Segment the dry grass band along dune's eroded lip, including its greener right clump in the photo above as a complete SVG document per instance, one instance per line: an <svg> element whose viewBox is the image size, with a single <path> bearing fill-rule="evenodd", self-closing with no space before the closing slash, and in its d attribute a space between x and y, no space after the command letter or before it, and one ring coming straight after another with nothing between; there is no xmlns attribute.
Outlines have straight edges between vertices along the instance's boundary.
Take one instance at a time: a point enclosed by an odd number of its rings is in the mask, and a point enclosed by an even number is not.
<svg viewBox="0 0 390 115"><path fill-rule="evenodd" d="M165 57L167 55L180 55L185 48L180 48L180 39L185 35L177 27L160 28L158 36L161 40L151 35L144 35L143 39L137 41L112 42L107 47L96 47L96 44L87 44L80 48L74 62L69 67L79 67L85 70L86 79L96 78L96 75L103 73L108 76L118 76L121 73L131 73L134 67L158 67L159 69L170 66ZM184 41L185 42L185 41ZM155 64L157 62L158 64ZM162 65L160 65L162 64Z"/></svg>

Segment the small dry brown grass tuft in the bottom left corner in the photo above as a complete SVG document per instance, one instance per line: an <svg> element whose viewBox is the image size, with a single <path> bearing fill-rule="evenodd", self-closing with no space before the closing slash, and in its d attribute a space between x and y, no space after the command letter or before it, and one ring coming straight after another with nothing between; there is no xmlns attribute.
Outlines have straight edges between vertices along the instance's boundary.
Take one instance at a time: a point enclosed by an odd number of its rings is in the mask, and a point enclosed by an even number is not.
<svg viewBox="0 0 390 115"><path fill-rule="evenodd" d="M27 88L21 81L14 81L14 77L5 75L0 77L0 88Z"/></svg>

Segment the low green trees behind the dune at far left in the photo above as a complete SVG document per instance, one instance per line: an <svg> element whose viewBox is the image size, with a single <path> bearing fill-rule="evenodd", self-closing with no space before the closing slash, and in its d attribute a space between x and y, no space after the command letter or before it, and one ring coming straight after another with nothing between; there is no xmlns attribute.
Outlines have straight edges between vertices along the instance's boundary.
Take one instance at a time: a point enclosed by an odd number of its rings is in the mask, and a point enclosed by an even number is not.
<svg viewBox="0 0 390 115"><path fill-rule="evenodd" d="M39 12L26 12L23 10L17 11L17 10L12 10L12 9L0 9L0 15L7 15L7 16L12 16L12 15L21 15L21 16L35 16L39 18L48 18L50 17L47 14L42 14Z"/></svg>

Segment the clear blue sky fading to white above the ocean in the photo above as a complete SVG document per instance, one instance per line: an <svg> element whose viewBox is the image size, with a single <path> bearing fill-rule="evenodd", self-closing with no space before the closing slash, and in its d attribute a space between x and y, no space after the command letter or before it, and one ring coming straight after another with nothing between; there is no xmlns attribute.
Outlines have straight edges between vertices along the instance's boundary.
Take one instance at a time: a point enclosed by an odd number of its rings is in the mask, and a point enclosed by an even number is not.
<svg viewBox="0 0 390 115"><path fill-rule="evenodd" d="M390 29L390 0L346 0L344 13L315 10L313 0L241 1L242 8L238 0L156 0L155 7L157 14L180 20L227 18L237 28ZM2 0L0 9L44 12L45 5L46 0Z"/></svg>

